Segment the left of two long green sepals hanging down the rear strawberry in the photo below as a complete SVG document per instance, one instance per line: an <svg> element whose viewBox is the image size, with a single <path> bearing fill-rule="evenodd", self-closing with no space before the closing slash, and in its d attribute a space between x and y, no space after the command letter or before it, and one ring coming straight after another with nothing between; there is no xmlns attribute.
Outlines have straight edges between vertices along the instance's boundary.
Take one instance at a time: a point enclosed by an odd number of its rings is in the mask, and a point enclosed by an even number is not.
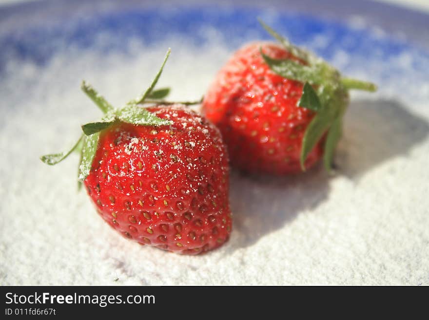
<svg viewBox="0 0 429 320"><path fill-rule="evenodd" d="M304 133L304 138L302 139L301 147L301 157L300 164L301 169L305 171L305 160L309 153L313 150L317 142L319 142L323 133L325 133L328 128L331 126L332 117L330 113L316 113L309 126L307 127L306 132Z"/></svg>

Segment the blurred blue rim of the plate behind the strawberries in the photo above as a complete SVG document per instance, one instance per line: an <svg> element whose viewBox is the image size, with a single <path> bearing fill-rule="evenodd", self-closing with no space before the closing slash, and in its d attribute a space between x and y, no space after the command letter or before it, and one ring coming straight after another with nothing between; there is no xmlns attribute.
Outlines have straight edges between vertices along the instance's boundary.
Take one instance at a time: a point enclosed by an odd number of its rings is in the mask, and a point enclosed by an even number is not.
<svg viewBox="0 0 429 320"><path fill-rule="evenodd" d="M320 34L338 40L336 49L365 56L376 50L398 55L418 48L429 53L429 15L368 0L266 0L260 1L66 1L41 0L0 7L0 75L8 60L30 60L44 64L70 46L90 48L100 33L114 41L98 50L124 50L130 38L154 43L166 37L188 35L196 45L210 41L198 30L215 26L233 49L243 39L268 39L256 17L268 17L273 26L293 42L303 43ZM305 13L303 13L305 12ZM362 27L356 23L365 20ZM398 23L398 21L400 23ZM351 23L352 22L352 23ZM351 24L354 23L354 26ZM382 34L382 36L380 36ZM345 35L351 41L342 44ZM370 41L368 40L370 39ZM363 41L365 40L365 41ZM362 45L365 43L365 45ZM330 50L331 48L331 50ZM317 53L326 59L332 46Z"/></svg>

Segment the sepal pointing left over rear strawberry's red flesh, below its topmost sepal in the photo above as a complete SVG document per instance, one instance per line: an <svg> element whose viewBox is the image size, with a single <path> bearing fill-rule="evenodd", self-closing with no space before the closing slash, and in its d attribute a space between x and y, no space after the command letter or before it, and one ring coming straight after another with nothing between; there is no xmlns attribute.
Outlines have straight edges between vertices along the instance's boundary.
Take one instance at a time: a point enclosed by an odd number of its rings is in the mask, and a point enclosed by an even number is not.
<svg viewBox="0 0 429 320"><path fill-rule="evenodd" d="M284 78L310 84L321 84L323 73L317 66L309 67L291 59L273 59L265 55L260 49L261 55L271 70Z"/></svg>

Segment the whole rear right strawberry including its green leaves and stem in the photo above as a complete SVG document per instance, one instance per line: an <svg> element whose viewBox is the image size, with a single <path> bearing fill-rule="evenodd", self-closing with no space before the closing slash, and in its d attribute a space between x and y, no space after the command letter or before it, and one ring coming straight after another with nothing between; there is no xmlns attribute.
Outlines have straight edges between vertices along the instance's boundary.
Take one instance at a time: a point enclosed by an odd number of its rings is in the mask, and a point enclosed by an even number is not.
<svg viewBox="0 0 429 320"><path fill-rule="evenodd" d="M280 44L256 42L239 49L204 96L203 114L222 132L234 167L297 173L323 156L329 170L348 90L376 87L341 77L260 22Z"/></svg>

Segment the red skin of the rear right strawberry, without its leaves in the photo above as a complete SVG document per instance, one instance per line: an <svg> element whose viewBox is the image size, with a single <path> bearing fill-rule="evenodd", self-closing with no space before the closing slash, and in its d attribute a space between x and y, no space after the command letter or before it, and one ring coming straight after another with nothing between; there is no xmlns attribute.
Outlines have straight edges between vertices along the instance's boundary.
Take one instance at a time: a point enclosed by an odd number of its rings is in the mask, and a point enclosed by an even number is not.
<svg viewBox="0 0 429 320"><path fill-rule="evenodd" d="M239 49L219 71L202 105L222 132L233 167L252 173L289 174L299 164L302 139L314 113L297 107L303 84L276 75L263 52L276 59L296 58L274 43ZM305 161L312 167L323 154L324 139Z"/></svg>

